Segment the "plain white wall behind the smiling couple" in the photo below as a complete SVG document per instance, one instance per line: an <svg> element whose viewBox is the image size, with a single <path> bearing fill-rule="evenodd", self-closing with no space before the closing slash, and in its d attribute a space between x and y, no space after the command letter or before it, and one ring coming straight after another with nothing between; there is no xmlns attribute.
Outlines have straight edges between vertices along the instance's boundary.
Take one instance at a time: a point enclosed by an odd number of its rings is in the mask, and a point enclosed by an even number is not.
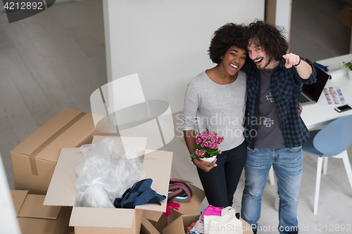
<svg viewBox="0 0 352 234"><path fill-rule="evenodd" d="M264 18L264 0L103 0L108 82L138 73L146 100L183 108L189 81L214 64L213 32Z"/></svg>

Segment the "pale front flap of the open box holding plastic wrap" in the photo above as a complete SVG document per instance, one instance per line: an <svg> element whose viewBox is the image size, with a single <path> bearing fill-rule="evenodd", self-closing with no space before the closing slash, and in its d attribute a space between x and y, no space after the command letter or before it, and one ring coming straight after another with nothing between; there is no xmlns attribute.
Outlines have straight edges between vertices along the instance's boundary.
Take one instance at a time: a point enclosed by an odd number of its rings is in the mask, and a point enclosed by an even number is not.
<svg viewBox="0 0 352 234"><path fill-rule="evenodd" d="M134 209L73 207L70 226L131 228Z"/></svg>

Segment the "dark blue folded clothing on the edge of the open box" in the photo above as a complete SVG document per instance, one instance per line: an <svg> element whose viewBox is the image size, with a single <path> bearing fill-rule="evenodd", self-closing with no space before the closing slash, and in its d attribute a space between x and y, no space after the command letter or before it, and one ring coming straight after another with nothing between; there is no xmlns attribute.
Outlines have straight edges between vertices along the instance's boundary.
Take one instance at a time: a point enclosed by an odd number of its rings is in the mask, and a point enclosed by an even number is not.
<svg viewBox="0 0 352 234"><path fill-rule="evenodd" d="M128 188L122 197L115 199L113 205L116 208L134 209L134 207L141 204L161 204L160 201L165 200L166 197L152 190L151 183L153 183L151 178L134 183L132 188Z"/></svg>

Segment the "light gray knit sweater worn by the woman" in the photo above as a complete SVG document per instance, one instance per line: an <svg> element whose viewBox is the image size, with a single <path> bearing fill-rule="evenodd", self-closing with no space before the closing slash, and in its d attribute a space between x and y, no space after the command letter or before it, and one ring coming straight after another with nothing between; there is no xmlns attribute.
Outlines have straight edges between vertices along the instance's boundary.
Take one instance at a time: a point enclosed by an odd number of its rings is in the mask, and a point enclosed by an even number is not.
<svg viewBox="0 0 352 234"><path fill-rule="evenodd" d="M231 150L244 141L244 107L246 103L246 73L239 71L235 82L216 84L206 72L201 72L188 84L184 96L183 129L199 132L218 131L224 136L219 148Z"/></svg>

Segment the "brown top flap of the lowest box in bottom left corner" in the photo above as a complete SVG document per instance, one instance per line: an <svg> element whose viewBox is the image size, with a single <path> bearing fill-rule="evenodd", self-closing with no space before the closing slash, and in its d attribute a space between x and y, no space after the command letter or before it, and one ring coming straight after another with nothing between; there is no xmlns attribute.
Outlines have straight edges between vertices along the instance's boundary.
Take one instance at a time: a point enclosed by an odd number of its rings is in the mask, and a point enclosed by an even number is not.
<svg viewBox="0 0 352 234"><path fill-rule="evenodd" d="M44 206L45 195L28 194L18 213L18 217L57 219L61 207Z"/></svg>

